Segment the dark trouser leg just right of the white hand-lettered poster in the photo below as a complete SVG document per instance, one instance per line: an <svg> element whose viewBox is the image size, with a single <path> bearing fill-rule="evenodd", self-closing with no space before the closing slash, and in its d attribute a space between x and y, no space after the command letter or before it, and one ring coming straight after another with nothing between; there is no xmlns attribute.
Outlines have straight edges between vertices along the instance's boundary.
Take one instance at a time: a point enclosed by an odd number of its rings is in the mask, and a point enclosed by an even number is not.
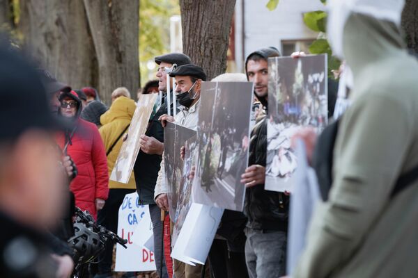
<svg viewBox="0 0 418 278"><path fill-rule="evenodd" d="M150 204L150 216L153 222L153 234L154 234L154 256L155 266L157 267L157 275L160 278L168 278L167 267L163 256L164 245L162 242L162 221L161 221L161 209L156 204Z"/></svg>

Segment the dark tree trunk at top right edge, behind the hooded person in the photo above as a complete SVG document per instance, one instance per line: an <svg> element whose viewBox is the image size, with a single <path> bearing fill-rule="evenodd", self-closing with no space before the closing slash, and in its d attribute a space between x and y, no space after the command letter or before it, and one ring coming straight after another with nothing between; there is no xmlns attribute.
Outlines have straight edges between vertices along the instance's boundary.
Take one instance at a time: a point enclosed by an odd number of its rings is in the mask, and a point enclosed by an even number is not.
<svg viewBox="0 0 418 278"><path fill-rule="evenodd" d="M418 1L406 0L402 12L402 26L408 48L418 53Z"/></svg>

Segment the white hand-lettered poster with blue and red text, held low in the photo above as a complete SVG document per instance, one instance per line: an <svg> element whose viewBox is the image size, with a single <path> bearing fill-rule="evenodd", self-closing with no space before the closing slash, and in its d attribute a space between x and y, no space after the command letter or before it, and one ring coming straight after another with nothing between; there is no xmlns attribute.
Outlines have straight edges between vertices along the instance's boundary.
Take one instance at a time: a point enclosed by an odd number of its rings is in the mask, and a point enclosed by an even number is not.
<svg viewBox="0 0 418 278"><path fill-rule="evenodd" d="M142 238L144 242L153 242L149 234L137 234L134 232L144 227L152 231L152 224L148 206L138 204L138 194L125 195L123 204L119 208L118 236L127 239L127 249L116 245L115 271L152 271L155 270L155 256L151 251L153 248L140 246L134 238Z"/></svg>

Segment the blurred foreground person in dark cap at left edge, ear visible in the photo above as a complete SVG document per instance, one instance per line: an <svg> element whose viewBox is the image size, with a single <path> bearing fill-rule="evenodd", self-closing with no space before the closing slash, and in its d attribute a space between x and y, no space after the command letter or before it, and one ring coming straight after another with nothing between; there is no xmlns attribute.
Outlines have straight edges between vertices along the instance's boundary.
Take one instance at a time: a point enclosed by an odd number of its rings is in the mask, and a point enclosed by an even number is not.
<svg viewBox="0 0 418 278"><path fill-rule="evenodd" d="M67 197L52 136L59 124L38 73L1 42L0 94L0 277L68 277L46 232Z"/></svg>

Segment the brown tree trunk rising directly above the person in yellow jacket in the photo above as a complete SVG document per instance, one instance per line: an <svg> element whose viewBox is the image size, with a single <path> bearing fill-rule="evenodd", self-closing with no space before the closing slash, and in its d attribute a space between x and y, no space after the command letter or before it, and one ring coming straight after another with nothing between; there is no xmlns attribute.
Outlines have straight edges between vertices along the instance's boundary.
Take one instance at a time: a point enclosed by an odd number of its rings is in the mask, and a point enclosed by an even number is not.
<svg viewBox="0 0 418 278"><path fill-rule="evenodd" d="M102 99L109 104L111 92L119 86L137 95L139 1L84 0L84 6L93 31Z"/></svg>

